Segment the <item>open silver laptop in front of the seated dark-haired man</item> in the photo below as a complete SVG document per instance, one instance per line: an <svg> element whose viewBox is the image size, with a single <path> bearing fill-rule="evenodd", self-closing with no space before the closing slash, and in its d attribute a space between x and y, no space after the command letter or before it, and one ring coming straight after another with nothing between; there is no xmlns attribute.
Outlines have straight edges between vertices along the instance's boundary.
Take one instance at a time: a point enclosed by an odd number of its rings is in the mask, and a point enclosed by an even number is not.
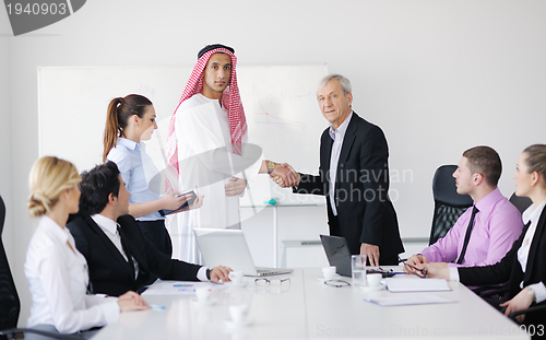
<svg viewBox="0 0 546 340"><path fill-rule="evenodd" d="M240 230L194 228L201 255L207 267L226 266L242 270L246 277L286 274L294 269L256 267Z"/></svg>

